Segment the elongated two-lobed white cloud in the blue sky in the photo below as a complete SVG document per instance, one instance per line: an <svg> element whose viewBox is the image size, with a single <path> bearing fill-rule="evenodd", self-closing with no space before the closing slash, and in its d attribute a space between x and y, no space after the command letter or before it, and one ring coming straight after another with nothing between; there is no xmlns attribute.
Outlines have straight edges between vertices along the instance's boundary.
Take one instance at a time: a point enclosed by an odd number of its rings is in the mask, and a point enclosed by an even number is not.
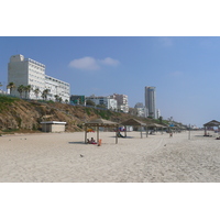
<svg viewBox="0 0 220 220"><path fill-rule="evenodd" d="M111 57L107 57L105 59L96 59L90 56L86 56L82 58L74 59L69 63L69 67L84 69L84 70L97 70L101 68L101 65L105 66L118 66L120 64L119 61L113 59Z"/></svg>

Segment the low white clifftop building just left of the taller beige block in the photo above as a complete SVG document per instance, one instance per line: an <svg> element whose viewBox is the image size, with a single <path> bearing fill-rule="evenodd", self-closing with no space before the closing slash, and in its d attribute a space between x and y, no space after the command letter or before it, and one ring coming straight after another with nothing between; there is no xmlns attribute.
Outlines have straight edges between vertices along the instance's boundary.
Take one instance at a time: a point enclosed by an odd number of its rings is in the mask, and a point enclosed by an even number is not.
<svg viewBox="0 0 220 220"><path fill-rule="evenodd" d="M106 106L107 109L117 110L118 103L116 99L110 97L95 97L90 96L86 98L87 100L94 101L97 106Z"/></svg>

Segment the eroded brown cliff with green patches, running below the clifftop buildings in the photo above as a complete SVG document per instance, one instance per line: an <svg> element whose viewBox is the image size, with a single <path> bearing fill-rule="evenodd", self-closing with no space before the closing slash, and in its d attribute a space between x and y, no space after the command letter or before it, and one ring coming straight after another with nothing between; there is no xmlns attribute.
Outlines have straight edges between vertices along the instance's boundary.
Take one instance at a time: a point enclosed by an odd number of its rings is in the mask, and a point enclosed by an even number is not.
<svg viewBox="0 0 220 220"><path fill-rule="evenodd" d="M82 131L82 123L86 121L96 118L120 121L121 114L59 102L25 101L0 97L0 131L41 130L42 121L65 121L67 122L66 131Z"/></svg>

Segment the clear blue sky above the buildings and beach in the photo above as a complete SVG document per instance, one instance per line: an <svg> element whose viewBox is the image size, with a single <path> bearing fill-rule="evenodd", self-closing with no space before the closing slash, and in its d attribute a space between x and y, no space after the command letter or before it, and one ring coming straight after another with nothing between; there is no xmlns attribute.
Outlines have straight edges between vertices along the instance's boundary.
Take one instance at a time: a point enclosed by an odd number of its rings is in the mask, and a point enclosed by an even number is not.
<svg viewBox="0 0 220 220"><path fill-rule="evenodd" d="M70 84L72 95L124 94L144 103L156 87L162 117L185 124L219 117L220 37L202 36L1 36L0 81L11 55L46 65L46 74Z"/></svg>

